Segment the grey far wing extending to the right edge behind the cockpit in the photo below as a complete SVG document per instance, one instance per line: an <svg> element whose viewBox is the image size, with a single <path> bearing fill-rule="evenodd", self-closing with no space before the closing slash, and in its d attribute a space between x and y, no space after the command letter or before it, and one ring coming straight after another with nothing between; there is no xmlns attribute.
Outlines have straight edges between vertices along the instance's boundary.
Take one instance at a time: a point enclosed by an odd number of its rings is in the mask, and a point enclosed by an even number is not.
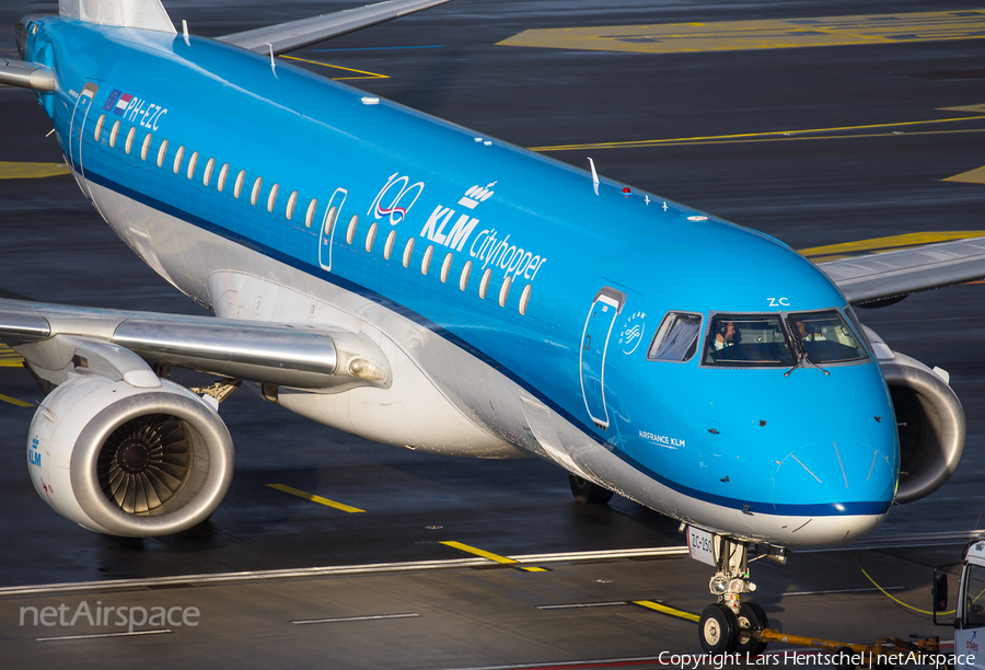
<svg viewBox="0 0 985 670"><path fill-rule="evenodd" d="M848 302L890 302L985 277L985 238L819 263Z"/></svg>

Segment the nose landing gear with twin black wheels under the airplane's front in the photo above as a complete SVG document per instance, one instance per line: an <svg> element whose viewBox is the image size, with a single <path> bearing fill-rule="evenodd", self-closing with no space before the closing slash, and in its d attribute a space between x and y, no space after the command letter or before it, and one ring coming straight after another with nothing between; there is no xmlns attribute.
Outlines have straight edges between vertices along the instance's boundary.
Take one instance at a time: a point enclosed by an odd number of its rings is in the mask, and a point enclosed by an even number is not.
<svg viewBox="0 0 985 670"><path fill-rule="evenodd" d="M708 585L718 602L702 612L698 637L708 654L762 654L766 643L758 632L769 627L766 612L754 602L741 602L742 593L756 590L749 579L749 545L714 535L716 573Z"/></svg>

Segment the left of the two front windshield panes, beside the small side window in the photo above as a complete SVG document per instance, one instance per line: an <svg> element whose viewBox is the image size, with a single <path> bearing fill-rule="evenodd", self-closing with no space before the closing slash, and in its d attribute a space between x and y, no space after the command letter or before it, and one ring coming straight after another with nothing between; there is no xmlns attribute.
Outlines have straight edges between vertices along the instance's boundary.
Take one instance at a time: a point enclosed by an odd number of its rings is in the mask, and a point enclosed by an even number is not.
<svg viewBox="0 0 985 670"><path fill-rule="evenodd" d="M790 368L796 362L779 314L716 314L705 344L706 366Z"/></svg>

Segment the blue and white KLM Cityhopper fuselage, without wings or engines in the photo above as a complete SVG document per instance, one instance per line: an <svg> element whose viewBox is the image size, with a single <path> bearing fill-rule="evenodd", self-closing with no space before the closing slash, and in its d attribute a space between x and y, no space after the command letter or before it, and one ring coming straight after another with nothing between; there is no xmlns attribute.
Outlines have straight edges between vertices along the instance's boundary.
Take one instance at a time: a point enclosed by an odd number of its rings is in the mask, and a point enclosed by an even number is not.
<svg viewBox="0 0 985 670"><path fill-rule="evenodd" d="M135 252L220 316L347 327L393 366L390 389L280 389L289 409L535 454L743 539L842 542L887 513L899 442L870 351L824 371L715 351L712 326L745 320L769 340L745 347L796 358L791 313L860 339L785 244L237 47L33 25L66 159ZM679 360L651 346L668 314L700 333Z"/></svg>

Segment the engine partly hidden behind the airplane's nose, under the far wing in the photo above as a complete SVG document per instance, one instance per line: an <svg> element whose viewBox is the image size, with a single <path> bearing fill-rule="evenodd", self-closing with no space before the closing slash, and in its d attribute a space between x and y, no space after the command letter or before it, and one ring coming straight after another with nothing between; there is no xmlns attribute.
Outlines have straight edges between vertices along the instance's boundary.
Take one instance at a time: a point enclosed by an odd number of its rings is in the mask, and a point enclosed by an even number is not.
<svg viewBox="0 0 985 670"><path fill-rule="evenodd" d="M900 485L896 503L928 496L958 470L966 427L961 401L947 373L891 350L871 328L879 366L889 385L900 435Z"/></svg>

